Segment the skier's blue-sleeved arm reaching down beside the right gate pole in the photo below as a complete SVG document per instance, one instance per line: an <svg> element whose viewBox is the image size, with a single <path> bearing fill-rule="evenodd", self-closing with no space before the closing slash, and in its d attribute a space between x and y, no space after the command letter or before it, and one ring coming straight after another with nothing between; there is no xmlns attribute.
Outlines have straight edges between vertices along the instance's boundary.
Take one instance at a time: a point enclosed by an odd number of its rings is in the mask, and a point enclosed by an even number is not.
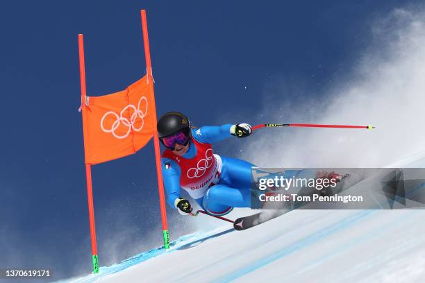
<svg viewBox="0 0 425 283"><path fill-rule="evenodd" d="M161 158L167 202L170 207L176 208L174 202L180 197L180 167L173 160Z"/></svg>

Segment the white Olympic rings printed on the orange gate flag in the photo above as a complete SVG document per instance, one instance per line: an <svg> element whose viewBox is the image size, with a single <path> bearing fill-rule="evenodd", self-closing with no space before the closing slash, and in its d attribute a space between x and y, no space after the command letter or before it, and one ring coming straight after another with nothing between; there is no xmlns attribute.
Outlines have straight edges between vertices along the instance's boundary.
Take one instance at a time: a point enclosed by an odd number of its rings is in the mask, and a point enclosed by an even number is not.
<svg viewBox="0 0 425 283"><path fill-rule="evenodd" d="M140 104L142 103L142 101L146 101L145 103L146 107L144 107L145 108L144 112L140 110ZM126 117L123 117L123 114L130 109L133 110L133 114L131 114L130 120L128 120ZM135 108L135 105L129 104L119 113L119 115L113 111L106 112L101 119L101 129L103 130L103 132L112 132L113 136L116 137L117 139L125 139L126 137L128 137L128 135L130 135L131 129L135 130L136 132L140 132L140 130L142 130L144 126L144 117L147 115L147 110L148 110L147 98L146 96L142 96L139 100L138 108ZM105 126L103 125L103 122L105 121L106 117L108 117L108 115L113 115L115 117L115 121L110 127L110 130L106 129ZM138 119L142 121L142 125L136 128L135 122ZM117 128L119 127L121 123L124 126L128 127L128 130L126 133L124 133L124 135L118 135L115 132L115 130L117 130Z"/></svg>

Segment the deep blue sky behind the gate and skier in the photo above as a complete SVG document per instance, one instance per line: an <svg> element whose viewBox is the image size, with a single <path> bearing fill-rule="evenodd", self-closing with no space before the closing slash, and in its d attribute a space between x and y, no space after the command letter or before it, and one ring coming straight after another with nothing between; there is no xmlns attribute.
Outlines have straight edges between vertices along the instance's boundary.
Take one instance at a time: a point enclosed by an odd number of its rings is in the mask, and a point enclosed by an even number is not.
<svg viewBox="0 0 425 283"><path fill-rule="evenodd" d="M285 123L292 121L268 121L271 115L258 112L270 98L267 89L292 82L274 94L276 103L325 99L326 88L367 48L371 24L416 3L228 2L3 3L0 267L49 267L56 279L91 271L78 33L85 37L89 96L124 89L144 75L144 8L158 114L178 110L197 126ZM310 92L299 97L294 88ZM233 140L215 149L234 155L243 146ZM151 143L137 155L93 166L101 266L160 244L155 170ZM185 233L184 223L169 210L172 237Z"/></svg>

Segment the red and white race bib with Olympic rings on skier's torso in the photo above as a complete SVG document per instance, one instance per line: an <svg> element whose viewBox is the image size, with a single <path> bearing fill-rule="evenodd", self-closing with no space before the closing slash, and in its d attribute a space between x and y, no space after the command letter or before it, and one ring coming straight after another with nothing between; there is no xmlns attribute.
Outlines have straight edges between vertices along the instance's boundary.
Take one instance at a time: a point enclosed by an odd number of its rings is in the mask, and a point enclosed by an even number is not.
<svg viewBox="0 0 425 283"><path fill-rule="evenodd" d="M206 190L217 184L222 169L222 158L213 154L211 144L203 144L191 139L191 146L196 147L197 155L184 158L165 150L163 157L176 160L181 169L180 186L194 198L201 198Z"/></svg>

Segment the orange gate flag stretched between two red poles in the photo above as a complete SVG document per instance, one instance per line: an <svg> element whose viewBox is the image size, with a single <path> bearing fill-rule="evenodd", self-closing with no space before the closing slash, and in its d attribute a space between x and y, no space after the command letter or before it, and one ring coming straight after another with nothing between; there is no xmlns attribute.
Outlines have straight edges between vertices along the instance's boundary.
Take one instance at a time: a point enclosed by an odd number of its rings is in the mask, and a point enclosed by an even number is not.
<svg viewBox="0 0 425 283"><path fill-rule="evenodd" d="M83 101L86 164L134 154L153 137L154 97L144 76L121 92Z"/></svg>

